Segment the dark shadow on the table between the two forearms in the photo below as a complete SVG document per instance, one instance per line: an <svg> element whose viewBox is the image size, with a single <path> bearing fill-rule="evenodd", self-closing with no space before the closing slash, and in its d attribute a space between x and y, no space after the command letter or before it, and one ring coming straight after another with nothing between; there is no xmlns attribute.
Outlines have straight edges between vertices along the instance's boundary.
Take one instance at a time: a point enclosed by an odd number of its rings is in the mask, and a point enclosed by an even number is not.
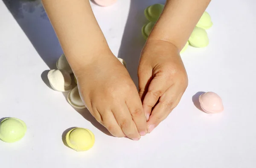
<svg viewBox="0 0 256 168"><path fill-rule="evenodd" d="M166 0L131 0L128 19L119 48L118 57L125 60L127 69L138 87L137 69L140 53L145 44L141 29L149 21L145 18L144 10L154 3L164 4Z"/></svg>

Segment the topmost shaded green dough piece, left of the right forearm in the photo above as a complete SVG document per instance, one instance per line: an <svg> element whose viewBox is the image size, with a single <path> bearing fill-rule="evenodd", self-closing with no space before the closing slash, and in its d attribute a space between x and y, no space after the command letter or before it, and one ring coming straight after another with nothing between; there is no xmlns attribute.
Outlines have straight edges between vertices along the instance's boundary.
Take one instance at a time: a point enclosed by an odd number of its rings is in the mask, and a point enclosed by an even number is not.
<svg viewBox="0 0 256 168"><path fill-rule="evenodd" d="M160 3L148 6L144 11L145 17L151 22L156 22L163 11L163 7L164 5Z"/></svg>

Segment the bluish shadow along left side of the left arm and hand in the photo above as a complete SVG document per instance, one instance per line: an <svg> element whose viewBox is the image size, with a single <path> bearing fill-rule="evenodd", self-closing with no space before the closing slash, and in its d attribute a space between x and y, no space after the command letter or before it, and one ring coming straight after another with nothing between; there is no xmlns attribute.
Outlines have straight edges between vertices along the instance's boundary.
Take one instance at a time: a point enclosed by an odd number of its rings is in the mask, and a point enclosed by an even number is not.
<svg viewBox="0 0 256 168"><path fill-rule="evenodd" d="M56 61L63 54L63 51L41 0L3 0L3 2L49 69L56 69ZM49 70L44 71L41 78L51 88L47 78L48 72ZM67 93L63 94L67 99ZM100 131L111 135L105 127L94 119L87 109L75 110Z"/></svg>

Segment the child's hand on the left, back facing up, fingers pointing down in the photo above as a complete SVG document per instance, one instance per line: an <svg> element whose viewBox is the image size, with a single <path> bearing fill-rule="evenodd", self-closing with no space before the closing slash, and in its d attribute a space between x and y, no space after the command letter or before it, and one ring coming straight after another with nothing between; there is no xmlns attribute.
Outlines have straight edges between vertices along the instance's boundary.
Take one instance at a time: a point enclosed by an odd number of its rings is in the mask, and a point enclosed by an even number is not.
<svg viewBox="0 0 256 168"><path fill-rule="evenodd" d="M124 65L112 54L76 71L79 92L90 113L115 137L139 140L147 131L143 106Z"/></svg>

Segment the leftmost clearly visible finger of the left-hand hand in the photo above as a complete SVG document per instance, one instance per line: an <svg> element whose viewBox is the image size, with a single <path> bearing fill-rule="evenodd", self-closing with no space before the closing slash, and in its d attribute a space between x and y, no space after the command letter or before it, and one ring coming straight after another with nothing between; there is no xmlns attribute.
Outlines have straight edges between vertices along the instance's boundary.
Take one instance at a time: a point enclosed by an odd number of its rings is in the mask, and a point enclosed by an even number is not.
<svg viewBox="0 0 256 168"><path fill-rule="evenodd" d="M108 131L114 137L125 137L122 129L119 127L116 119L111 111L104 112L102 115L103 126L108 129Z"/></svg>

